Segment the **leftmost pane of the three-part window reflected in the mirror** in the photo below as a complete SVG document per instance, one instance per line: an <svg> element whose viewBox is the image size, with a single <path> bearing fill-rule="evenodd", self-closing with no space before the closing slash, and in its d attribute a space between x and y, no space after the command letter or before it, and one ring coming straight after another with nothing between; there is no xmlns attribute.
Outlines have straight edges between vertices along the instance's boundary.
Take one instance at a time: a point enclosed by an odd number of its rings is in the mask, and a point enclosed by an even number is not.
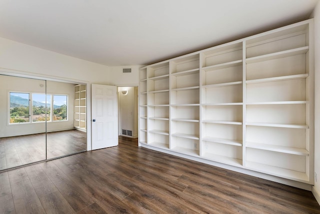
<svg viewBox="0 0 320 214"><path fill-rule="evenodd" d="M30 102L28 93L10 92L10 121L9 123L30 122Z"/></svg>

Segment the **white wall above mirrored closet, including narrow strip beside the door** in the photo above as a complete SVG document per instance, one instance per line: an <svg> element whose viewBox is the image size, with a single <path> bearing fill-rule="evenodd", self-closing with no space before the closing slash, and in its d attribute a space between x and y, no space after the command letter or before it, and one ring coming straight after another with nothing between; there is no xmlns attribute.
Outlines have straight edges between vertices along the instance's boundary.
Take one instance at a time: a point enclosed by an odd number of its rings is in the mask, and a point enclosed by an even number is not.
<svg viewBox="0 0 320 214"><path fill-rule="evenodd" d="M91 120L90 84L108 84L109 67L0 38L0 74L32 76L87 84L87 121ZM91 130L90 122L87 130ZM91 150L91 133L87 132Z"/></svg>

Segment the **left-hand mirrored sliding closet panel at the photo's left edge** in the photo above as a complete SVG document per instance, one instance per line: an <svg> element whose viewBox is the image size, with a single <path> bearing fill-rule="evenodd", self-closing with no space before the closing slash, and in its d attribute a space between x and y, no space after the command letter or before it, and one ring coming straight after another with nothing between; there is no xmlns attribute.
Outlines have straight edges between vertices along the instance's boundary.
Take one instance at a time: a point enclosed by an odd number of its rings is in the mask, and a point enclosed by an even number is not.
<svg viewBox="0 0 320 214"><path fill-rule="evenodd" d="M0 75L0 170L45 160L45 98L45 80Z"/></svg>

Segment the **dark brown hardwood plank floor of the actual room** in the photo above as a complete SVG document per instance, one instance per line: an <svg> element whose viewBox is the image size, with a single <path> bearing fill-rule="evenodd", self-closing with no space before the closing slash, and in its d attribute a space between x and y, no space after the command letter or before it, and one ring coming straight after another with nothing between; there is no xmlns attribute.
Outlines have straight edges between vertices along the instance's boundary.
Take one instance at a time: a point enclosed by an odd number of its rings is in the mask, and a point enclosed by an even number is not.
<svg viewBox="0 0 320 214"><path fill-rule="evenodd" d="M137 147L0 173L0 213L320 213L310 191Z"/></svg>

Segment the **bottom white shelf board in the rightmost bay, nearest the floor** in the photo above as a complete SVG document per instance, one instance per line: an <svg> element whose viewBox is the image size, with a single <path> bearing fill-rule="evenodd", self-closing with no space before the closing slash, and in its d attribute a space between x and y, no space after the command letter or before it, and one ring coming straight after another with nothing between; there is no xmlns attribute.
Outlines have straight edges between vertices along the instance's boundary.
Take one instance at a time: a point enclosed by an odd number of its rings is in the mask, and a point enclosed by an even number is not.
<svg viewBox="0 0 320 214"><path fill-rule="evenodd" d="M270 175L275 175L275 176L284 177L284 178L302 181L302 182L309 181L309 178L305 174L305 172L298 172L290 169L270 166L270 165L251 162L251 161L246 161L245 166L247 169L252 169L254 171L267 173Z"/></svg>

